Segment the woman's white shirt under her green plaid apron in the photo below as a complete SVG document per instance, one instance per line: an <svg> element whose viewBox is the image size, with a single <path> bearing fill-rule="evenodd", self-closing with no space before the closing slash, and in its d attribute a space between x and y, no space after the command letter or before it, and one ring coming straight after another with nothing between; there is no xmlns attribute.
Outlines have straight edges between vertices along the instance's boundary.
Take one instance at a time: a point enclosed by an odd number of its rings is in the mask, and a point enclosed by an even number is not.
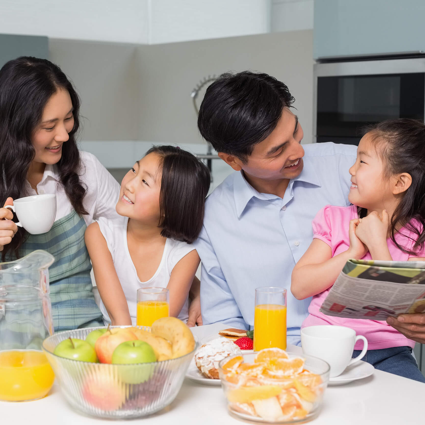
<svg viewBox="0 0 425 425"><path fill-rule="evenodd" d="M88 212L87 215L83 215L86 224L89 225L93 220L100 217L116 218L118 214L115 211L115 206L119 198L119 183L92 153L80 151L80 162L80 181L87 187L83 201ZM72 204L60 181L56 165L46 165L43 177L37 184L37 192L39 195L44 193L56 194L55 221L72 211ZM37 195L37 192L27 181L28 195Z"/></svg>

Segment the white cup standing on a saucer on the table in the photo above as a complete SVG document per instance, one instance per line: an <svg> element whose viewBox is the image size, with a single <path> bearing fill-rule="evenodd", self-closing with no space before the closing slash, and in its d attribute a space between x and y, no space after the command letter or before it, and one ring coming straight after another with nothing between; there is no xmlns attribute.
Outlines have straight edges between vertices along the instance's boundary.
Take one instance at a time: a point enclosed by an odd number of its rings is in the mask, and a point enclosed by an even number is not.
<svg viewBox="0 0 425 425"><path fill-rule="evenodd" d="M363 350L352 359L354 344L363 340ZM363 335L345 326L319 325L301 329L303 353L325 360L331 366L330 377L343 373L345 368L360 361L368 350L368 341Z"/></svg>

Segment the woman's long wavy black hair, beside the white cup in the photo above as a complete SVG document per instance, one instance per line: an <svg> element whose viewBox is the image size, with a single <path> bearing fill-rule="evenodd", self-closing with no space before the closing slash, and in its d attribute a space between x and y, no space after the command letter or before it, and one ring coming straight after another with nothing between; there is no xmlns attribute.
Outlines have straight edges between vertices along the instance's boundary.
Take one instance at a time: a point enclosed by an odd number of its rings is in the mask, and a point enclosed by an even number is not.
<svg viewBox="0 0 425 425"><path fill-rule="evenodd" d="M34 159L31 139L40 124L49 98L58 89L67 90L74 107L74 127L69 139L62 145L62 157L57 163L60 181L74 210L87 214L83 198L87 188L79 179L80 156L76 144L79 129L80 101L72 83L57 65L46 59L19 57L10 60L0 70L0 202L14 199L26 193L27 172ZM10 244L3 248L2 259L13 252L19 258L19 248L27 238L27 232L19 228ZM10 254L9 254L10 256Z"/></svg>

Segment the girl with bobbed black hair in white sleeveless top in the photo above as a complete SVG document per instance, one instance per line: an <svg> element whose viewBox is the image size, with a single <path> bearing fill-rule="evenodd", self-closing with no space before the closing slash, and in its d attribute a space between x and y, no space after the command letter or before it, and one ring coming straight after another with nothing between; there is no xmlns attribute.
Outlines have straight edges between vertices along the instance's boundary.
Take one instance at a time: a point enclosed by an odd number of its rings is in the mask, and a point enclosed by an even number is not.
<svg viewBox="0 0 425 425"><path fill-rule="evenodd" d="M152 147L121 183L116 211L85 233L105 323L136 324L136 292L170 292L170 316L187 321L188 294L199 265L192 242L204 218L207 167L173 146Z"/></svg>

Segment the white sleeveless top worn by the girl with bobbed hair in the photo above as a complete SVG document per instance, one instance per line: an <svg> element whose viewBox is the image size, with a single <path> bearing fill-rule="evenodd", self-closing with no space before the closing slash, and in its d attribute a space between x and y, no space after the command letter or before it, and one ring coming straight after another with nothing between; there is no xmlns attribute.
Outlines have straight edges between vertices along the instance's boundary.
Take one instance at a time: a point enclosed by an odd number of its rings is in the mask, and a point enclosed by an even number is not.
<svg viewBox="0 0 425 425"><path fill-rule="evenodd" d="M137 307L137 289L147 286L160 286L166 288L170 280L171 272L174 266L195 247L185 242L174 241L167 238L165 241L164 252L161 262L154 275L142 282L137 275L136 267L128 251L127 245L127 223L128 217L121 217L121 220L107 220L99 218L97 220L100 231L108 244L109 252L111 252L113 264L121 283L122 289L127 299L128 310L130 312L133 326L136 325L136 307ZM170 300L172 302L172 300ZM178 318L185 323L188 319L189 300L187 299L181 309ZM100 310L103 314L105 323L111 323L108 312L103 302L100 302Z"/></svg>

